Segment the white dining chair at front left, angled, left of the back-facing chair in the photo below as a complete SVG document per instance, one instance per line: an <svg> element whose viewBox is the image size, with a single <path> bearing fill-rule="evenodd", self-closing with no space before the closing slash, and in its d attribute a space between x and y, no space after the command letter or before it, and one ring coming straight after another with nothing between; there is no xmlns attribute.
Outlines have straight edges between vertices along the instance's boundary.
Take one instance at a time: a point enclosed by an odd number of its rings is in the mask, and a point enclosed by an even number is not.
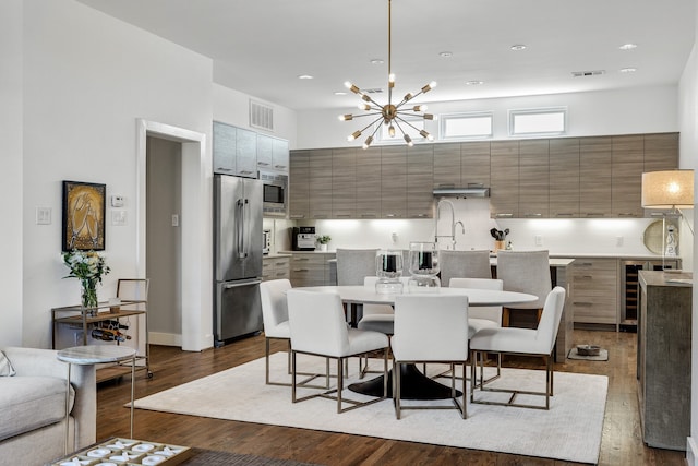
<svg viewBox="0 0 698 466"><path fill-rule="evenodd" d="M337 413L345 413L387 397L388 337L380 332L349 328L345 322L341 299L336 292L291 289L288 300L289 327L291 334L291 399L293 403L315 397L335 399ZM345 361L366 353L383 351L383 396L359 402L347 398L344 391ZM333 390L297 396L298 355L315 355L337 360L337 386ZM334 394L334 395L333 395ZM344 403L351 406L345 408Z"/></svg>

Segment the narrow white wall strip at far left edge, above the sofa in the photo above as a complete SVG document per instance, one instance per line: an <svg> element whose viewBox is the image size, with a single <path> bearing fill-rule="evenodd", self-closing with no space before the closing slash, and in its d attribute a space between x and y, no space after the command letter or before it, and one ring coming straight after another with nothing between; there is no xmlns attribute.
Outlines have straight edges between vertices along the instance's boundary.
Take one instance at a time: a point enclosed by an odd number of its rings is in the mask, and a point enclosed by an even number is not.
<svg viewBox="0 0 698 466"><path fill-rule="evenodd" d="M0 2L0 348L22 344L22 1Z"/></svg>

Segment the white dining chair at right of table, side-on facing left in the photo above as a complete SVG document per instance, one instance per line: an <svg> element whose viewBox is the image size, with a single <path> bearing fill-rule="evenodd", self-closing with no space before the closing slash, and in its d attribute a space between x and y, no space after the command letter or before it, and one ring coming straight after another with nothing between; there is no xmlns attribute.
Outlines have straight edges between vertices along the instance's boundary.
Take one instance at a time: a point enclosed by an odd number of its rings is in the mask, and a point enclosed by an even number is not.
<svg viewBox="0 0 698 466"><path fill-rule="evenodd" d="M559 327L559 320L565 304L565 288L556 286L550 291L543 304L543 312L537 330L500 327L483 328L470 338L470 377L474 381L476 366L480 361L480 382L470 384L470 403L486 405L518 406L525 408L550 409L550 397L553 396L553 348L555 337ZM483 383L482 370L483 359L480 355L484 353L515 354L527 356L542 356L545 359L545 391L526 391L520 389L488 387ZM476 399L476 389L482 392L504 392L510 394L507 402L493 399ZM517 395L541 395L545 396L545 406L516 403Z"/></svg>

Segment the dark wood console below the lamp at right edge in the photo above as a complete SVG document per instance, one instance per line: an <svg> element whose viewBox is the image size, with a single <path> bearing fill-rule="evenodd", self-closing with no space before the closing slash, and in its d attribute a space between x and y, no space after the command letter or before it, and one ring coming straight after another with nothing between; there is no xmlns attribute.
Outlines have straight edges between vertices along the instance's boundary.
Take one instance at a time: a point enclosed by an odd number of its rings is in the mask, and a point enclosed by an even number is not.
<svg viewBox="0 0 698 466"><path fill-rule="evenodd" d="M686 450L690 435L693 274L639 271L638 401L642 440Z"/></svg>

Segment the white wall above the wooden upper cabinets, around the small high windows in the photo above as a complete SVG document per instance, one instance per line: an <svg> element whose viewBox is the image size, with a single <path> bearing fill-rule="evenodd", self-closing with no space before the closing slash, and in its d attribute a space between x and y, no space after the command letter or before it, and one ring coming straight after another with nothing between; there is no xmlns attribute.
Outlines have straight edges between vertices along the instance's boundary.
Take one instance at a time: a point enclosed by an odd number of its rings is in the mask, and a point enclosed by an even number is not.
<svg viewBox="0 0 698 466"><path fill-rule="evenodd" d="M437 93L438 87L433 91ZM436 95L436 94L434 94ZM430 104L434 115L492 111L495 140L508 136L510 109L567 107L567 136L630 134L678 131L676 86L640 87L622 91L554 94L455 103ZM359 100L357 100L357 104ZM350 109L347 109L349 111ZM339 121L340 111L300 111L298 147L361 146L363 139L347 143L347 135L361 127L357 121ZM366 122L364 122L366 124ZM425 129L438 134L438 122L426 121Z"/></svg>

